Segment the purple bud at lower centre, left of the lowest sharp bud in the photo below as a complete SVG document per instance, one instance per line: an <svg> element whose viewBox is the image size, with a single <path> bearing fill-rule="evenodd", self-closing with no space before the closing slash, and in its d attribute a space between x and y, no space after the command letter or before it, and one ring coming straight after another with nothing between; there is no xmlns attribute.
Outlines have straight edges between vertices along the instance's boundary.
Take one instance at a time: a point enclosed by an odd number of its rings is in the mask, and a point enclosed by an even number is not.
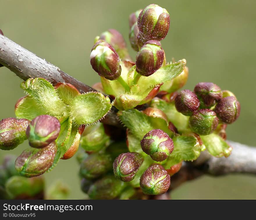
<svg viewBox="0 0 256 220"><path fill-rule="evenodd" d="M113 163L115 177L124 182L133 180L143 161L139 153L121 153Z"/></svg>

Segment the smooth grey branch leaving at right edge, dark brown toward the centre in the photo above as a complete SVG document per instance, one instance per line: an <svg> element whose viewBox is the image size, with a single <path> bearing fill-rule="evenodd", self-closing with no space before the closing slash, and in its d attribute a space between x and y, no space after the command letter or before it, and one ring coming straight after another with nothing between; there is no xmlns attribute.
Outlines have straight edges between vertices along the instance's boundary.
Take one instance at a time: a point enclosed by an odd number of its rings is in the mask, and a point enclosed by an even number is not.
<svg viewBox="0 0 256 220"><path fill-rule="evenodd" d="M170 190L204 174L213 176L230 173L256 174L256 147L227 142L233 147L229 157L216 158L204 151L194 162L184 162L180 171L171 177Z"/></svg>

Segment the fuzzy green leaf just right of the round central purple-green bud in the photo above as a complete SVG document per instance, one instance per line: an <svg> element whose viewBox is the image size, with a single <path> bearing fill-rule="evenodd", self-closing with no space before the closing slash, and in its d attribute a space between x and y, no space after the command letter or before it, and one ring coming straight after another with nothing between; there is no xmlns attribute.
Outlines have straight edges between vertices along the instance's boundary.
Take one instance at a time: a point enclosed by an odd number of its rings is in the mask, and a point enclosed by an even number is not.
<svg viewBox="0 0 256 220"><path fill-rule="evenodd" d="M192 136L173 137L174 149L170 156L166 159L163 166L170 169L171 166L185 160L192 161L199 157L201 151L205 150L205 146L198 143L198 140Z"/></svg>

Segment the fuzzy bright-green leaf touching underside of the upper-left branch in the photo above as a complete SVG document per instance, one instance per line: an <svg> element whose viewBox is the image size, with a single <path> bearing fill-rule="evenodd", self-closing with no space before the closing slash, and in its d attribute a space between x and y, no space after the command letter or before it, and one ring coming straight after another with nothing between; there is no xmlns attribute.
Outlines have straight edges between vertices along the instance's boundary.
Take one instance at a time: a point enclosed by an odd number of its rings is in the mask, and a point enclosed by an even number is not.
<svg viewBox="0 0 256 220"><path fill-rule="evenodd" d="M67 116L67 108L59 98L53 85L43 78L30 78L21 83L25 90L38 103L38 108L43 108L47 114L57 117Z"/></svg>

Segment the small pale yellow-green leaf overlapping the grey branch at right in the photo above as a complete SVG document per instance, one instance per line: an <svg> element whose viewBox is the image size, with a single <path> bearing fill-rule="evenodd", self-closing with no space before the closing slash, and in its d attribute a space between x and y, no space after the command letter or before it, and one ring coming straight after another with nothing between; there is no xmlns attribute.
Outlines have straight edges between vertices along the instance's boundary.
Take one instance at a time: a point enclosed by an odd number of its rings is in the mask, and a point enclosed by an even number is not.
<svg viewBox="0 0 256 220"><path fill-rule="evenodd" d="M209 151L211 155L214 157L228 157L232 151L232 147L230 147L227 142L224 141L217 134L210 135L201 135L202 141L204 142L206 149Z"/></svg>

